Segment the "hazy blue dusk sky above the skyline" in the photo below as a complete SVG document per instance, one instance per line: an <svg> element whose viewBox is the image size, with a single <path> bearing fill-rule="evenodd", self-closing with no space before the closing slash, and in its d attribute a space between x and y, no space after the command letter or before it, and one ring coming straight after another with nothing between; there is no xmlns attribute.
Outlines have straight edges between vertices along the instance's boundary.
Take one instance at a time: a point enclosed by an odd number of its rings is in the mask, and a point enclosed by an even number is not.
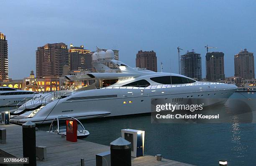
<svg viewBox="0 0 256 166"><path fill-rule="evenodd" d="M178 53L201 54L204 46L224 52L225 76L234 75L234 55L256 55L255 0L6 0L1 1L0 32L8 40L9 78L36 72L36 49L46 43L118 49L135 67L139 50L156 51L158 70L178 73Z"/></svg>

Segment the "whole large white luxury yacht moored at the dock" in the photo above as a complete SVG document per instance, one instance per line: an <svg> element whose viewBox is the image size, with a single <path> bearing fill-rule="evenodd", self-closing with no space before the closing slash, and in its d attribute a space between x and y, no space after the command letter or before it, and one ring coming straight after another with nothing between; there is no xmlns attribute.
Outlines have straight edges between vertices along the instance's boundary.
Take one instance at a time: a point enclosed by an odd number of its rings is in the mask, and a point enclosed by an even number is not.
<svg viewBox="0 0 256 166"><path fill-rule="evenodd" d="M237 89L233 84L198 82L179 74L134 69L113 57L112 50L94 53L93 65L97 73L66 76L71 81L95 80L94 84L11 121L22 124L30 120L42 124L51 123L61 115L87 119L147 113L151 112L151 99L154 98L168 98L174 102L198 99L204 106L215 105L225 103ZM106 64L113 64L114 68Z"/></svg>

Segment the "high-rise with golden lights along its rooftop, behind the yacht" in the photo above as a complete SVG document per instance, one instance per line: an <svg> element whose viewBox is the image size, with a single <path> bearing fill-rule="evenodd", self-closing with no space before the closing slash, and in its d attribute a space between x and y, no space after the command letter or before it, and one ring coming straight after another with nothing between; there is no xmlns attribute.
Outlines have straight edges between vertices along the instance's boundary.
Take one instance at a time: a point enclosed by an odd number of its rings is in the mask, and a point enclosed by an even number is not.
<svg viewBox="0 0 256 166"><path fill-rule="evenodd" d="M74 70L92 70L92 55L90 50L84 49L84 46L74 47L70 44L69 49L69 71Z"/></svg>

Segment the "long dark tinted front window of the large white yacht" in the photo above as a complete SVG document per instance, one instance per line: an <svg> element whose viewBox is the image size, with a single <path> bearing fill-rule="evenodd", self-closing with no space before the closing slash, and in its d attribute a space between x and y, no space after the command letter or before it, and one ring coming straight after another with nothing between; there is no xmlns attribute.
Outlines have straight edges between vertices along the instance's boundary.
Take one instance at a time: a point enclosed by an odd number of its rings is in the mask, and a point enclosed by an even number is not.
<svg viewBox="0 0 256 166"><path fill-rule="evenodd" d="M159 84L187 84L195 82L192 79L179 76L172 76L172 80L170 76L152 77L150 79Z"/></svg>

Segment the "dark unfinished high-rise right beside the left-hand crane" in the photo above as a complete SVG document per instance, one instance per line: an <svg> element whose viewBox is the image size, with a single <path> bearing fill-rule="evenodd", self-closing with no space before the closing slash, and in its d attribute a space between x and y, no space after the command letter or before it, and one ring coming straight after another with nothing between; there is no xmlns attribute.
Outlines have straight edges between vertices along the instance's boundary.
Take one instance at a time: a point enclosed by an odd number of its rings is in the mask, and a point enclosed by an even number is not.
<svg viewBox="0 0 256 166"><path fill-rule="evenodd" d="M181 56L181 74L192 79L202 79L202 63L200 54L187 51L187 54Z"/></svg>

